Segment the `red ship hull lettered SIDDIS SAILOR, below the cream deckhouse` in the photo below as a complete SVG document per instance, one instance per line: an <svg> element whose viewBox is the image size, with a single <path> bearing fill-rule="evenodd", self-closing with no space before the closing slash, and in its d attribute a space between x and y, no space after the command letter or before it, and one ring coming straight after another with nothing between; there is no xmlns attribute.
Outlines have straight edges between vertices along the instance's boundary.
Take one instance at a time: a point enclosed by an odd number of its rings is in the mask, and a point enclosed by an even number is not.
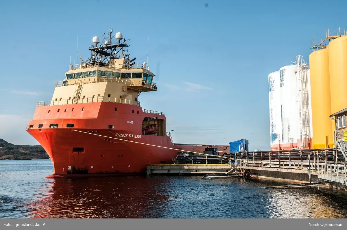
<svg viewBox="0 0 347 230"><path fill-rule="evenodd" d="M141 174L148 165L171 163L177 152L203 153L207 147L173 144L167 135L143 135L144 117L153 116L164 120L165 129L165 116L144 113L141 107L134 105L96 102L39 106L26 130L48 153L54 175L61 176ZM58 127L50 128L50 124L58 124ZM66 127L66 124L74 124L74 127ZM109 125L113 129L109 129ZM229 152L228 146L215 148Z"/></svg>

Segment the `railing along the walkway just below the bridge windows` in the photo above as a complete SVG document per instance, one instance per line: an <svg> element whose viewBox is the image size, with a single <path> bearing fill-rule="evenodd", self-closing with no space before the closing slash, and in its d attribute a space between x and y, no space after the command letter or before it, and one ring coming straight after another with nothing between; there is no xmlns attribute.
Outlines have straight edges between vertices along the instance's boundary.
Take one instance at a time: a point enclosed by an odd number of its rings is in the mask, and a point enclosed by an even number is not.
<svg viewBox="0 0 347 230"><path fill-rule="evenodd" d="M105 82L105 81L111 81L111 82L119 82L124 83L128 86L132 87L146 87L151 89L156 89L156 84L154 82L150 81L142 81L142 79L136 79L136 78L119 78L119 77L90 77L90 78L76 78L76 79L69 79L65 81L56 81L54 82L54 85L56 87L61 86L71 86L71 85L78 85L78 84L88 84L88 83L96 83L96 82Z"/></svg>

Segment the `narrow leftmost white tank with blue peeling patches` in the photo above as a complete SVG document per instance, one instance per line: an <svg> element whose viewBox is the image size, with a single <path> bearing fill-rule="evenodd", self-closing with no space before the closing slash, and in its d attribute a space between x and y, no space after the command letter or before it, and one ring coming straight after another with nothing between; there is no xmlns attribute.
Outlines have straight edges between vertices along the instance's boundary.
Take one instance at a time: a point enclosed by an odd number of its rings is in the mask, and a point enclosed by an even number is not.
<svg viewBox="0 0 347 230"><path fill-rule="evenodd" d="M270 146L278 148L282 142L280 71L269 74Z"/></svg>

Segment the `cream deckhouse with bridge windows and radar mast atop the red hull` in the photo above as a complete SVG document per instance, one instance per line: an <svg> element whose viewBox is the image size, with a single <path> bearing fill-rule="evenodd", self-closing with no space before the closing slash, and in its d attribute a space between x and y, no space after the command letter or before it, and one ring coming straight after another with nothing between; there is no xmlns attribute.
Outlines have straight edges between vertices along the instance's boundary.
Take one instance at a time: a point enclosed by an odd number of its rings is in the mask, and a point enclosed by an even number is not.
<svg viewBox="0 0 347 230"><path fill-rule="evenodd" d="M112 37L111 30L109 34ZM129 55L124 54L124 47L128 45L120 42L122 35L119 34L116 34L118 43L104 39L100 46L97 46L99 38L94 37L91 58L82 60L80 57L80 64L70 65L66 79L55 82L52 100L39 103L64 105L110 101L140 105L137 98L141 92L156 91L155 75L147 63L132 63L136 58L129 60ZM117 56L120 51L122 54Z"/></svg>

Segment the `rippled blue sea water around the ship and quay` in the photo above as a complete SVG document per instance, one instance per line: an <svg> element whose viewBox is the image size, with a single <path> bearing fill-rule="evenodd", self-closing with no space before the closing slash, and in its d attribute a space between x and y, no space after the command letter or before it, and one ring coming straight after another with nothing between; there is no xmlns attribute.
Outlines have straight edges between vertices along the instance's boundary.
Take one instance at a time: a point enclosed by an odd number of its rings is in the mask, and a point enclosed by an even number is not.
<svg viewBox="0 0 347 230"><path fill-rule="evenodd" d="M200 176L44 178L52 172L50 160L0 161L0 218L347 218L347 193L329 188Z"/></svg>

